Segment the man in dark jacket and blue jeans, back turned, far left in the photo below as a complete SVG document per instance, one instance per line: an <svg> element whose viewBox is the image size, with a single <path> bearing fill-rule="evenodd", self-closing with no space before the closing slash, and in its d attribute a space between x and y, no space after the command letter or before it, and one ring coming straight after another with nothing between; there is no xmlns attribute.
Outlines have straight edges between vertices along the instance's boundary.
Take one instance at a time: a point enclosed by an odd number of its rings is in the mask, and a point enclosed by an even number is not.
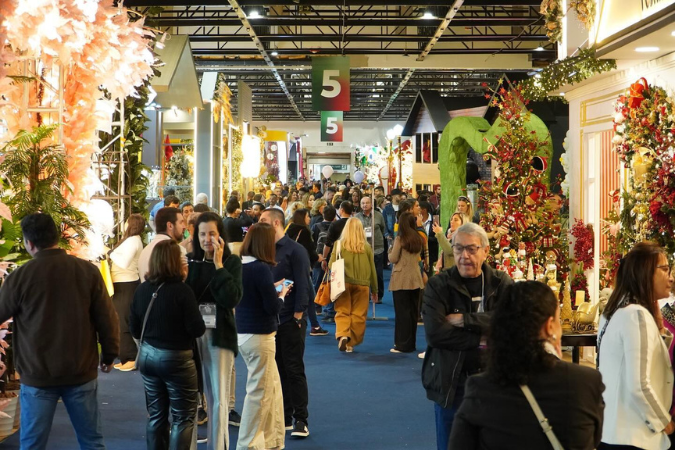
<svg viewBox="0 0 675 450"><path fill-rule="evenodd" d="M47 447L59 399L82 448L105 448L97 368L110 372L119 353L117 313L96 266L59 248L51 216L29 214L21 230L33 259L0 289L0 323L14 318L21 448Z"/></svg>

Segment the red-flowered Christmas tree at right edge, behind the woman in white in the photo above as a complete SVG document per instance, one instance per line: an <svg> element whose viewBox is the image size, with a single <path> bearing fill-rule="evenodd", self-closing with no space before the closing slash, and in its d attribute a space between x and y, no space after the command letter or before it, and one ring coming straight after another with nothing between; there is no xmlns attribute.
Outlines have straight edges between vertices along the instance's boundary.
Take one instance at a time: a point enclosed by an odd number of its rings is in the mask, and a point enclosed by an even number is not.
<svg viewBox="0 0 675 450"><path fill-rule="evenodd" d="M614 192L603 224L603 284L611 285L621 255L649 240L675 253L675 99L645 78L631 84L614 106L614 150L629 174Z"/></svg>

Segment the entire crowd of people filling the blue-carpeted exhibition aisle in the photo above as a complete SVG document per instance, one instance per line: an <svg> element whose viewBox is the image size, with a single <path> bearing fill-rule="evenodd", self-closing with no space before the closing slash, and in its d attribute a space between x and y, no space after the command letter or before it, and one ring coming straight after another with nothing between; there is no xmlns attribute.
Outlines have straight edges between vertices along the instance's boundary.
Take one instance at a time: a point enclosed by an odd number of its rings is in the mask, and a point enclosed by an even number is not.
<svg viewBox="0 0 675 450"><path fill-rule="evenodd" d="M112 299L93 265L58 248L51 217L22 220L33 260L0 289L0 322L13 317L16 327L22 448L46 447L59 398L82 448L103 448L99 365L140 371L149 449L196 448L199 439L230 448L229 426L240 427L240 450L282 449L288 431L305 438L306 336L329 334L321 318L335 323L338 351L354 352L369 304L382 302L386 268L390 352L416 353L424 325L418 356L438 450L670 448L672 334L658 301L673 279L658 246L638 244L621 260L593 370L562 360L550 288L514 283L486 262L488 235L468 197L444 227L440 188L413 198L349 180L298 183L243 202L234 191L224 217L204 194L194 205L164 194L150 214L152 240L143 246L145 220L132 214L109 252ZM344 292L319 307L316 293L338 261ZM241 415L237 356L247 369Z"/></svg>

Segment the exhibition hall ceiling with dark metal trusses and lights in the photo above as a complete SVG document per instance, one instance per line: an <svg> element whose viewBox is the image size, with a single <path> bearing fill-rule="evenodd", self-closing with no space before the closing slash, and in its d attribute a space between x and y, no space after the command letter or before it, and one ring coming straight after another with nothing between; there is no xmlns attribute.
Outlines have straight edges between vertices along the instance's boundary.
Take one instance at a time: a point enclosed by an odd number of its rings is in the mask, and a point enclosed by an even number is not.
<svg viewBox="0 0 675 450"><path fill-rule="evenodd" d="M349 56L345 120L407 118L420 89L476 97L483 83L556 59L540 0L127 0L147 24L189 35L197 71L253 90L255 120L318 120L312 58ZM158 8L160 7L160 8ZM236 105L233 106L236 107ZM236 111L235 111L236 113Z"/></svg>

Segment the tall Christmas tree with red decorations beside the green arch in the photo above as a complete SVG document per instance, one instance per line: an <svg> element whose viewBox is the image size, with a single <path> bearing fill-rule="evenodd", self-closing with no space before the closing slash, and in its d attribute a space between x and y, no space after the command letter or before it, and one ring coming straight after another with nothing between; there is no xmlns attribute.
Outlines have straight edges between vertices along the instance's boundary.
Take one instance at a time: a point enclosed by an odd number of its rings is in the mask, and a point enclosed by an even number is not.
<svg viewBox="0 0 675 450"><path fill-rule="evenodd" d="M548 275L548 266L553 265L555 284L558 276L568 271L568 251L560 223L562 201L548 188L550 136L542 139L527 128L530 112L518 89L500 89L496 94L501 125L498 139L489 145L486 157L499 165L499 173L492 183L481 185L480 198L486 211L481 225L488 233L490 246L495 251L501 249L502 255L513 250L514 256L520 258L524 253L542 266L542 276ZM519 266L518 259L513 263ZM521 271L525 264L522 261ZM516 268L504 261L501 266L510 273Z"/></svg>

